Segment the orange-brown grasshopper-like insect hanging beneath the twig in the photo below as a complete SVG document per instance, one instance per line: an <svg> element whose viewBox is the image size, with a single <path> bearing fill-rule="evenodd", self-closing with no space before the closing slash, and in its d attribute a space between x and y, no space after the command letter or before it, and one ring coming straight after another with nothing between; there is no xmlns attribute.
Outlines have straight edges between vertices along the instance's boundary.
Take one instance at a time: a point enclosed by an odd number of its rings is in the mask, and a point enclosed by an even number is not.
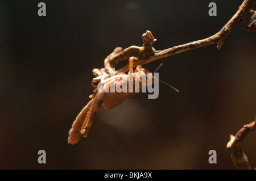
<svg viewBox="0 0 256 181"><path fill-rule="evenodd" d="M142 50L142 49L141 49ZM141 52L141 51L140 51ZM137 57L130 57L129 59L129 65L130 65L130 74L122 74L122 75L115 75L113 77L110 77L108 79L103 79L100 82L102 89L109 89L108 92L105 91L99 91L97 88L94 90L94 94L90 95L90 98L92 98L89 103L81 110L79 115L77 115L76 120L73 122L72 128L69 131L69 137L68 137L68 144L76 144L80 137L87 137L90 131L90 127L93 123L93 117L96 115L98 111L101 110L101 108L105 108L105 110L110 110L118 104L121 104L126 99L131 98L138 92L134 91L135 87L135 81L134 77L139 77L139 90L142 89L143 86L148 86L154 83L154 75L150 74L147 75L147 73L150 73L150 71L143 69L142 66L137 66L137 68L133 71L133 61L138 60ZM133 76L130 76L133 75ZM142 83L142 77L147 76L150 81L147 81L146 84ZM131 78L133 78L133 91L129 91L129 81L131 82ZM117 86L120 82L123 80L127 80L127 91L126 92L110 92L111 85ZM119 85L120 86L120 85ZM99 87L99 86L98 86ZM121 85L122 87L122 85Z"/></svg>

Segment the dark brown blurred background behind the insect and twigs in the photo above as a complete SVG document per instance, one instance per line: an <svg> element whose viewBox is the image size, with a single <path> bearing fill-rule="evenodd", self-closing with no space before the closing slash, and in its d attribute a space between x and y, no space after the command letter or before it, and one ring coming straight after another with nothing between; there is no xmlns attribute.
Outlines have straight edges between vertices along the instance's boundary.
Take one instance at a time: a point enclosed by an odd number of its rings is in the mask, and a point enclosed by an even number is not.
<svg viewBox="0 0 256 181"><path fill-rule="evenodd" d="M141 93L101 110L90 134L68 145L73 120L93 92L92 70L115 47L142 46L152 32L156 50L218 32L242 1L0 2L0 169L235 169L230 134L256 115L256 34L239 26L216 45L156 60L158 99ZM127 64L123 62L118 65ZM243 150L256 166L256 134ZM46 151L46 164L38 151ZM208 162L216 150L217 163Z"/></svg>

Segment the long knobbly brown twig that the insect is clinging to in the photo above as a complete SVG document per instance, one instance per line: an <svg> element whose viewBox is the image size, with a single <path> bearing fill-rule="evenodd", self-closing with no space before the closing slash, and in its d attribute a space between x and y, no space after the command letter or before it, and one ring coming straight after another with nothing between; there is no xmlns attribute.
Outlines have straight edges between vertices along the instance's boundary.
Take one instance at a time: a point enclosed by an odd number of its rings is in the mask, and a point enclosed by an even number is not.
<svg viewBox="0 0 256 181"><path fill-rule="evenodd" d="M197 40L191 43L178 45L172 48L156 51L152 47L152 43L154 43L156 40L152 36L152 33L150 31L147 31L142 35L144 47L143 47L143 51L141 52L141 56L138 57L139 60L134 61L134 67L138 65L147 64L151 61L158 60L160 58L169 57L177 53L185 52L187 50L204 47L210 44L217 44L217 49L220 49L221 45L224 43L229 33L232 32L234 27L241 22L241 19L243 19L246 15L248 15L250 10L253 8L255 1L256 0L243 1L238 11L236 12L236 14L233 15L233 17L229 20L229 22L226 23L225 26L222 27L221 30L217 32L215 35L207 37L206 39ZM242 28L248 31L254 30L255 24L256 22L252 22L250 28L248 27L246 28L245 25L242 26ZM137 47L137 46L131 46L123 50L120 47L115 48L114 52L110 54L104 61L105 70L108 73L110 73L113 71L113 68L115 68L115 65L117 65L119 61L128 60L132 56L137 57L139 53L139 49L140 47ZM115 74L119 72L126 72L128 70L129 70L129 64L127 64L126 66L123 66L123 68L119 70L116 70ZM96 79L94 79L94 81L98 82Z"/></svg>

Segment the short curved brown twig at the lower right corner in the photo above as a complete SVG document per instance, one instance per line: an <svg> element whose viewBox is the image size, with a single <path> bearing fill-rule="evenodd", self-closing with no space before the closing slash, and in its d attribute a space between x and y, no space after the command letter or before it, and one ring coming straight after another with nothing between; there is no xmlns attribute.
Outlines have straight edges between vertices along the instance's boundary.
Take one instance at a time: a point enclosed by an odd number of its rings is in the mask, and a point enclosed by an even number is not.
<svg viewBox="0 0 256 181"><path fill-rule="evenodd" d="M250 170L250 165L248 158L245 153L242 151L242 144L243 140L245 139L245 136L250 133L251 131L254 131L256 128L256 117L253 122L250 124L243 125L243 128L240 129L240 131L237 132L236 136L233 136L233 134L230 134L230 141L226 145L226 148L228 150L231 150L231 159L234 163L234 166L236 166L237 169L240 170Z"/></svg>

